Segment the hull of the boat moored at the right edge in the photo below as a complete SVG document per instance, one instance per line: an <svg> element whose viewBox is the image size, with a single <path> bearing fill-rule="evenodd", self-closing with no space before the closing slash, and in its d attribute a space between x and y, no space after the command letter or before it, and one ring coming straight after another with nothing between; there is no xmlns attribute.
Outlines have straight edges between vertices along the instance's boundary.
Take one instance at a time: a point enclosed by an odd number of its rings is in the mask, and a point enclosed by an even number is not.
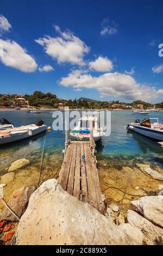
<svg viewBox="0 0 163 256"><path fill-rule="evenodd" d="M148 138L155 139L156 141L163 141L163 131L152 130L146 127L136 126L134 124L128 124L128 129Z"/></svg>

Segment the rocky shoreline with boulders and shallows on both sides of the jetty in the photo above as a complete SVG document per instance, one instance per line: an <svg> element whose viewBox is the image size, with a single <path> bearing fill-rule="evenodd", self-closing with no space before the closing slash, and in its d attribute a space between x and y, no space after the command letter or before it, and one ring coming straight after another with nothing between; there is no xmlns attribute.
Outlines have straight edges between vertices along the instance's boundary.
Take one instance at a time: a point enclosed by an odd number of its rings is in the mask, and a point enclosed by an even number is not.
<svg viewBox="0 0 163 256"><path fill-rule="evenodd" d="M103 161L98 164L99 180L108 201L105 216L62 190L52 179L54 169L43 173L44 182L36 189L39 172L31 169L29 160L12 162L0 182L9 184L4 188L4 198L9 190L8 205L21 220L17 224L9 210L3 209L0 221L7 220L12 228L5 233L1 230L1 243L5 235L16 232L6 245L162 244L163 196L158 196L163 189L162 169L138 162L119 170ZM14 181L18 179L30 182L20 182L24 185L17 187Z"/></svg>

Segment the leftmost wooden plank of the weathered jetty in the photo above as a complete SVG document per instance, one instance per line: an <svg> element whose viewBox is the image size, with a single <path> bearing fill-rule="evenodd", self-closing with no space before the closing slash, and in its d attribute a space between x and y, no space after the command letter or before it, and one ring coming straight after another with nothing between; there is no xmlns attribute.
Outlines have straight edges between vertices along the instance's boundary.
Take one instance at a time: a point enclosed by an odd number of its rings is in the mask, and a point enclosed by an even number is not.
<svg viewBox="0 0 163 256"><path fill-rule="evenodd" d="M67 188L68 176L70 172L71 159L73 153L73 145L73 143L68 145L66 155L64 157L64 162L62 163L62 167L59 173L58 182L64 190L66 190Z"/></svg>

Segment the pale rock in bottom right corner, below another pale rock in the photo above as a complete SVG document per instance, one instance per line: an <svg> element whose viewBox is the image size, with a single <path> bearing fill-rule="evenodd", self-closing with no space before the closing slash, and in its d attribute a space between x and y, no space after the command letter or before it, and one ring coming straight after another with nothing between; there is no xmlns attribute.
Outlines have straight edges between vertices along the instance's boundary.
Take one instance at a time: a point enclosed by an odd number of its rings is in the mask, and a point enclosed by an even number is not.
<svg viewBox="0 0 163 256"><path fill-rule="evenodd" d="M139 228L142 231L145 245L156 245L160 237L163 239L163 229L154 225L137 212L128 210L127 221L134 228Z"/></svg>

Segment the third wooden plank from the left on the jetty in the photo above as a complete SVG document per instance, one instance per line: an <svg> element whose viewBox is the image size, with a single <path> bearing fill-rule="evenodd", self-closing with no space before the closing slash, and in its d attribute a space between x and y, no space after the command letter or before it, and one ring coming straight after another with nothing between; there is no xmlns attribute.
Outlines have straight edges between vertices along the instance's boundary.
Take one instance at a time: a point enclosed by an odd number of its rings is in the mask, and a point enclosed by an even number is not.
<svg viewBox="0 0 163 256"><path fill-rule="evenodd" d="M74 174L73 196L80 200L80 143L77 144L76 168Z"/></svg>

